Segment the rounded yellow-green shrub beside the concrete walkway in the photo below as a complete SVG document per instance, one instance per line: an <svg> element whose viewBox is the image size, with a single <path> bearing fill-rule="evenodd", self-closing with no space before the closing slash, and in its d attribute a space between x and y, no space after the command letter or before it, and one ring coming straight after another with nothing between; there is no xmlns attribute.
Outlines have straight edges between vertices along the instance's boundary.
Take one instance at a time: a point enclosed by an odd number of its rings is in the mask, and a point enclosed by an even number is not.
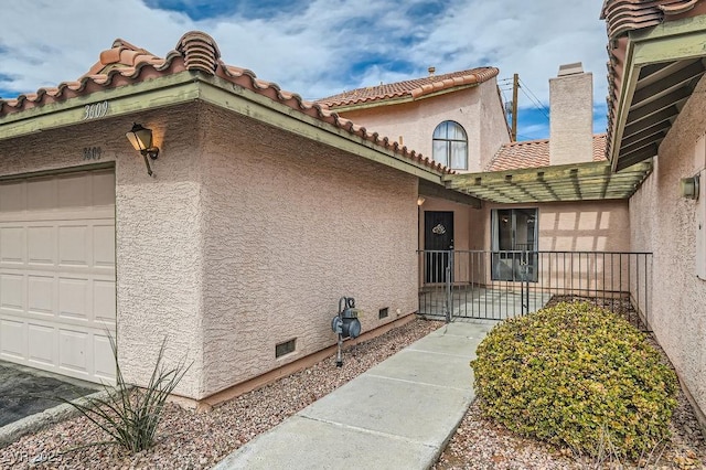
<svg viewBox="0 0 706 470"><path fill-rule="evenodd" d="M485 416L523 436L596 456L608 432L625 457L668 437L678 383L645 335L590 303L500 323L471 361Z"/></svg>

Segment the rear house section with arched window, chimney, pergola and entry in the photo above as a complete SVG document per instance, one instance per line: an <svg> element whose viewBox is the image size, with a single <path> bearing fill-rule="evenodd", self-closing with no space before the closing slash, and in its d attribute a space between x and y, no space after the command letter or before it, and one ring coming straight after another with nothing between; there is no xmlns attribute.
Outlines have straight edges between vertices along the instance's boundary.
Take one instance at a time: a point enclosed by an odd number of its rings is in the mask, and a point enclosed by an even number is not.
<svg viewBox="0 0 706 470"><path fill-rule="evenodd" d="M454 249L457 285L471 279L490 285L494 279L518 277L517 259L512 256L503 261L510 266L501 263L489 269L490 255L463 252L629 252L628 199L651 167L644 163L611 177L605 156L606 135L592 133L592 74L584 72L581 64L559 67L549 81L549 139L521 142L510 141L496 74L493 67L430 73L317 103L431 152L435 160L456 171L445 177L448 188L483 201L480 205L454 202L425 191L424 183L419 185L419 249ZM449 124L458 126L461 136L449 139L454 140L450 143L439 136L439 129L446 130ZM464 145L454 154L449 149L458 140ZM537 174L543 175L542 182ZM567 175L575 181L567 184ZM591 188L596 181L598 189ZM586 188L581 189L582 184ZM445 227L443 234L434 232L439 226ZM420 284L441 279L436 266L440 260L432 254L420 263ZM498 261L495 257L493 263ZM461 266L469 263L477 268L464 273ZM498 269L515 273L503 277L496 275ZM602 266L595 271L593 277L607 284Z"/></svg>

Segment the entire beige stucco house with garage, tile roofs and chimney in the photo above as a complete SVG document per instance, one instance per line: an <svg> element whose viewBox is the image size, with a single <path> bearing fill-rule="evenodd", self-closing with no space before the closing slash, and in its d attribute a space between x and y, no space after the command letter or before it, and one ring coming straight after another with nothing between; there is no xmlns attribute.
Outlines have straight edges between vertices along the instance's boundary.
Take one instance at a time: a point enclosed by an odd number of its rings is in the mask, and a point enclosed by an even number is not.
<svg viewBox="0 0 706 470"><path fill-rule="evenodd" d="M706 424L706 0L601 14L606 135L580 64L550 81L549 139L511 142L493 67L308 103L200 32L0 100L0 359L109 381L115 334L143 384L165 338L178 394L215 403L325 352L341 296L364 331L410 319L417 250L639 252L649 285L619 288Z"/></svg>

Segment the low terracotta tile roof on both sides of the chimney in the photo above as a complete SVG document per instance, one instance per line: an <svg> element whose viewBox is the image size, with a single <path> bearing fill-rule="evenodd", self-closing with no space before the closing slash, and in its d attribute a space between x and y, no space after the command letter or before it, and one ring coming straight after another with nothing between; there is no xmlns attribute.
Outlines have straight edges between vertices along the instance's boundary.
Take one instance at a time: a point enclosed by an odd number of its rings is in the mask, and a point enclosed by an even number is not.
<svg viewBox="0 0 706 470"><path fill-rule="evenodd" d="M606 135L593 136L592 161L606 160ZM520 170L549 167L549 140L525 140L503 145L488 165L486 171Z"/></svg>

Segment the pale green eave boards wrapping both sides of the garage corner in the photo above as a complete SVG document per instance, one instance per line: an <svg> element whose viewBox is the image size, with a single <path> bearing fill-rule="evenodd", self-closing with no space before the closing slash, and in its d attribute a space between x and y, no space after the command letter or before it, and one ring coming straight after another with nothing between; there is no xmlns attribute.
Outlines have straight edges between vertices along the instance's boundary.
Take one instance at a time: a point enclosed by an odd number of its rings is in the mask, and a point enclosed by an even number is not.
<svg viewBox="0 0 706 470"><path fill-rule="evenodd" d="M409 158L409 152L405 153L406 149L400 150L394 142L383 139L379 140L382 143L375 143L370 140L370 136L365 138L350 132L221 77L191 71L105 88L0 116L0 140L79 126L87 121L86 107L104 102L108 103L108 113L100 118L90 118L89 121L196 100L400 170L443 189L442 171L426 165L424 161L416 161L414 154Z"/></svg>

